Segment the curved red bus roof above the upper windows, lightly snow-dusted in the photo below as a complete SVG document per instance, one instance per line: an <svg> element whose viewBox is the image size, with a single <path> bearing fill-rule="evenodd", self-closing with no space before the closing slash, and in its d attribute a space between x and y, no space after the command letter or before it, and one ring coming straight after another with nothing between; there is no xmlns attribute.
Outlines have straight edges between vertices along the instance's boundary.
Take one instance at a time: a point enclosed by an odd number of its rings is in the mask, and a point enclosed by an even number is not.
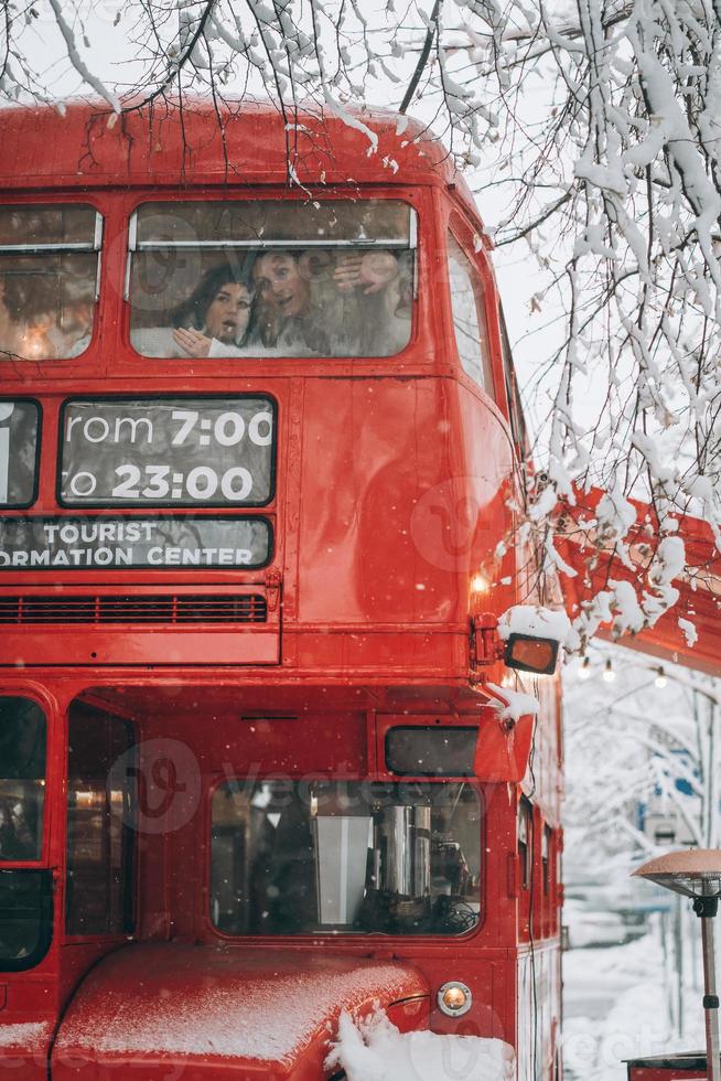
<svg viewBox="0 0 721 1081"><path fill-rule="evenodd" d="M287 122L289 121L289 122ZM0 188L287 183L455 185L473 197L427 128L383 109L283 118L252 100L184 99L115 114L104 103L0 109Z"/></svg>

